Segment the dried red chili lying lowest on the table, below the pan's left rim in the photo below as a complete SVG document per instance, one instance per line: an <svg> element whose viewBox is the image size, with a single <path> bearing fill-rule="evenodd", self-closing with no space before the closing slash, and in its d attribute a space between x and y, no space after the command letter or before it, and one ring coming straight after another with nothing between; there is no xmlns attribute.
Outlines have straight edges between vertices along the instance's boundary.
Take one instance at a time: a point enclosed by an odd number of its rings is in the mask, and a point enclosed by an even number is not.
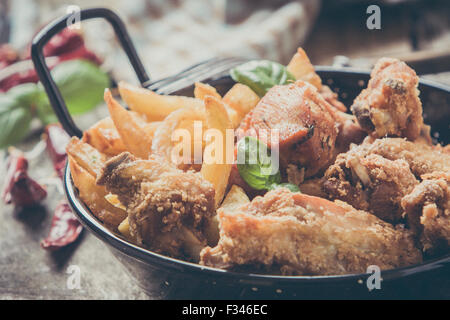
<svg viewBox="0 0 450 320"><path fill-rule="evenodd" d="M74 242L80 235L83 227L73 214L66 201L61 201L55 209L50 232L41 242L47 250L57 250Z"/></svg>

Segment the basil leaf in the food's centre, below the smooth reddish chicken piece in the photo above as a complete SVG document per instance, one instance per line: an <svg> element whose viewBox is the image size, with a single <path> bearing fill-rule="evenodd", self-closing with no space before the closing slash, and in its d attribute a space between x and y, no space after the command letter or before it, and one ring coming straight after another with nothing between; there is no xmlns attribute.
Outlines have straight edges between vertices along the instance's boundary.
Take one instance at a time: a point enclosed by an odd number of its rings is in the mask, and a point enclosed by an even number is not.
<svg viewBox="0 0 450 320"><path fill-rule="evenodd" d="M256 190L281 182L280 172L273 172L270 150L254 137L245 137L237 144L237 168L242 179Z"/></svg>

